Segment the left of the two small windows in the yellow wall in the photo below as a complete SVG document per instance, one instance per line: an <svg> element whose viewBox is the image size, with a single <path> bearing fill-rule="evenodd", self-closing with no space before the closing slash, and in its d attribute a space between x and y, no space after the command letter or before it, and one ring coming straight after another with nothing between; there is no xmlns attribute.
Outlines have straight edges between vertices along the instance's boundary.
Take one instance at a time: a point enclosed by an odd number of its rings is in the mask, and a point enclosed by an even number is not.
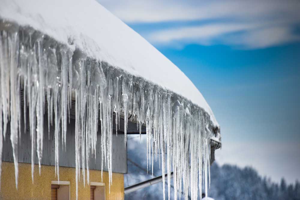
<svg viewBox="0 0 300 200"><path fill-rule="evenodd" d="M70 200L70 181L51 181L51 200Z"/></svg>

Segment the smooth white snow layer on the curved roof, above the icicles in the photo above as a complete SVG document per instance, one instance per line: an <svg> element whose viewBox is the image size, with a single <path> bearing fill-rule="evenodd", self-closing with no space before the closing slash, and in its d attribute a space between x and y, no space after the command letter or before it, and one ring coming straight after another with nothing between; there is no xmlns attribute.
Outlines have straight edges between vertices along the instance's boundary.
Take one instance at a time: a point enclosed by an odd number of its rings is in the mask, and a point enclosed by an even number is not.
<svg viewBox="0 0 300 200"><path fill-rule="evenodd" d="M93 0L1 0L0 17L29 25L87 56L143 77L202 107L219 126L202 94L148 41Z"/></svg>

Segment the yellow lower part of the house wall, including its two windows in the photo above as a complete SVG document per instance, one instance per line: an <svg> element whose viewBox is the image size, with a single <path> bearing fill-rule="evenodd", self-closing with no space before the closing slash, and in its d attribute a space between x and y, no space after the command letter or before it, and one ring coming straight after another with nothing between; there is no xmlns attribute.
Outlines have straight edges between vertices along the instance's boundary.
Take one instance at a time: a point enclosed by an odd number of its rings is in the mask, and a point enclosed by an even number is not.
<svg viewBox="0 0 300 200"><path fill-rule="evenodd" d="M75 168L59 168L59 185L54 168L54 166L42 165L40 176L38 165L35 165L34 183L32 183L31 164L19 163L19 183L16 189L13 163L3 162L0 199L76 199ZM110 186L110 192L108 184L108 172L103 172L103 180L101 180L101 170L90 170L90 185L85 183L84 186L82 177L79 181L78 199L124 199L122 173L113 172L113 185ZM57 185L59 188L56 189Z"/></svg>

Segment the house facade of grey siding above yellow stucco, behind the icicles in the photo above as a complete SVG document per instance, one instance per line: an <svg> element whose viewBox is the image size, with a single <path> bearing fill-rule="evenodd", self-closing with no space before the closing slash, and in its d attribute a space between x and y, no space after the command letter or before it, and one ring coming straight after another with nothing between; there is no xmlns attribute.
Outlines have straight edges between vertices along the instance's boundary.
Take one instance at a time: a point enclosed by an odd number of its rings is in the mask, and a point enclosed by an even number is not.
<svg viewBox="0 0 300 200"><path fill-rule="evenodd" d="M22 106L23 110L23 106ZM27 109L28 115L28 109ZM54 160L54 127L50 126L48 132L47 113L44 119L44 140L41 175L39 175L38 157L35 155L34 178L31 175L31 136L27 120L24 124L22 116L21 136L18 143L19 155L19 179L16 188L13 149L10 142L10 127L3 141L2 152L2 175L0 199L76 199L75 179L75 119L74 110L70 110L70 123L67 126L67 140L65 148L60 147L59 152L59 181L55 174ZM27 116L29 117L29 116ZM116 131L116 127L113 127ZM113 184L109 187L109 175L104 163L101 178L101 128L97 134L96 158L92 154L90 159L89 183L87 183L87 171L85 169L85 183L83 181L82 169L78 184L78 199L110 200L124 199L124 177L127 173L127 153L125 151L124 133L118 131L118 136L113 134ZM49 133L49 134L48 134ZM60 142L60 145L61 142ZM35 153L36 154L36 153Z"/></svg>

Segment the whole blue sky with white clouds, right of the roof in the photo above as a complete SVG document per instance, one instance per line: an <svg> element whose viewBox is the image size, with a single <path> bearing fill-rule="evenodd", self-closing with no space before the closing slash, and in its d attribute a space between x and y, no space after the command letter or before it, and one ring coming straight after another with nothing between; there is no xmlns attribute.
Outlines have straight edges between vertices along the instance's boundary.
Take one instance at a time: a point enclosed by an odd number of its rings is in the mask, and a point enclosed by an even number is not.
<svg viewBox="0 0 300 200"><path fill-rule="evenodd" d="M98 1L203 94L218 163L300 180L300 1Z"/></svg>

